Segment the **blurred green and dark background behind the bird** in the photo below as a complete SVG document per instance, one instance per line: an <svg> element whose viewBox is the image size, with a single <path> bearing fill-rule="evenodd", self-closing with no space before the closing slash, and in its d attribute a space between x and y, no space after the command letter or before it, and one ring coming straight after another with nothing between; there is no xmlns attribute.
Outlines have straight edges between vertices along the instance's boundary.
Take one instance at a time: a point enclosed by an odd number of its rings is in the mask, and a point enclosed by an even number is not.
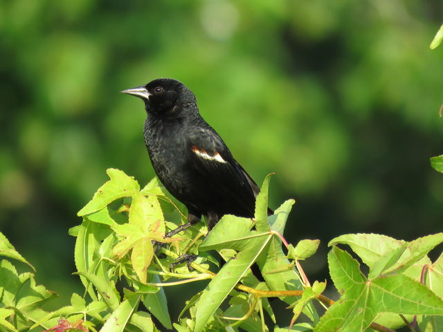
<svg viewBox="0 0 443 332"><path fill-rule="evenodd" d="M338 234L442 231L442 21L441 0L0 0L0 230L68 302L67 230L105 169L154 176L118 91L174 77L257 183L275 172L271 207L296 199L311 279Z"/></svg>

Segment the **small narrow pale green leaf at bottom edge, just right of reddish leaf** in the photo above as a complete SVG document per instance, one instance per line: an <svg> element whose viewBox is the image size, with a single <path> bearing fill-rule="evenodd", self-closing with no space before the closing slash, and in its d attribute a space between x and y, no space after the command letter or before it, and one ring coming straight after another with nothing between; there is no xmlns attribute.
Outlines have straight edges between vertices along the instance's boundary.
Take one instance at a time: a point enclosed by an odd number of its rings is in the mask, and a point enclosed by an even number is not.
<svg viewBox="0 0 443 332"><path fill-rule="evenodd" d="M107 319L100 332L123 332L132 313L136 310L141 295L134 294L127 296L127 299L120 303L111 316Z"/></svg>

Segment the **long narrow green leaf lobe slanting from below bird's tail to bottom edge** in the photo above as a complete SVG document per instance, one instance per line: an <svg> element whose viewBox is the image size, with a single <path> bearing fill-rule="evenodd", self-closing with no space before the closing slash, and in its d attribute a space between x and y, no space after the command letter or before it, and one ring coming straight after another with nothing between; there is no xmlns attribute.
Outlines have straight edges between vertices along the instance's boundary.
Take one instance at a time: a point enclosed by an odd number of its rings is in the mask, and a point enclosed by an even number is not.
<svg viewBox="0 0 443 332"><path fill-rule="evenodd" d="M251 267L271 238L271 234L255 238L253 242L248 243L248 246L237 254L235 259L228 261L219 270L219 273L217 273L201 294L197 304L195 332L199 332L204 328L206 322L215 313L221 302L226 299L248 268Z"/></svg>

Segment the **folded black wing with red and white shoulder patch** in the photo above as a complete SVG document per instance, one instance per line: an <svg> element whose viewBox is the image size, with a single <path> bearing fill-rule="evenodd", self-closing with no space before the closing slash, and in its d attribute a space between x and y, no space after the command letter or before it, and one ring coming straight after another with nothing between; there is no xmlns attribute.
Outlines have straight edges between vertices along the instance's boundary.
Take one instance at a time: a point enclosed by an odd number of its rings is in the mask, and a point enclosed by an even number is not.
<svg viewBox="0 0 443 332"><path fill-rule="evenodd" d="M211 129L199 129L190 135L189 149L192 167L206 181L208 190L217 193L220 205L226 206L224 210L252 217L260 189L220 136Z"/></svg>

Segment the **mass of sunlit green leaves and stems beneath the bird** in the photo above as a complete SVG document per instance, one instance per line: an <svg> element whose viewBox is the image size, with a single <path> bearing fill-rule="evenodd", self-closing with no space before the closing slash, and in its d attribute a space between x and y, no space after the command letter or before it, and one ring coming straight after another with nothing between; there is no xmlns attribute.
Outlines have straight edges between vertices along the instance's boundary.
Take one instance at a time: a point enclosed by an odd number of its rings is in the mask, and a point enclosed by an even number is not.
<svg viewBox="0 0 443 332"><path fill-rule="evenodd" d="M77 239L75 264L84 294L73 293L70 305L45 311L42 305L55 294L37 286L33 273L17 273L3 259L0 331L363 332L397 328L404 324L399 315L409 320L415 315L422 331L437 332L442 326L443 254L431 262L428 252L443 242L443 233L410 242L379 234L332 239L329 273L340 294L334 302L323 295L326 282L311 284L300 265L314 255L319 241L306 239L293 246L282 237L294 201L267 216L269 176L257 196L254 219L226 215L205 239L204 223L163 239L181 219L165 217L163 210L176 206L158 181L141 189L117 169L107 174L110 180L78 213L82 223L70 230ZM356 258L338 246L349 246ZM0 249L3 257L30 266L3 234ZM213 257L216 250L226 261L221 268ZM191 269L172 267L184 253L198 254ZM251 273L254 263L264 282ZM188 300L179 317L170 317L163 288L205 279L204 290ZM287 322L275 321L268 297L289 304L289 326L279 327ZM323 315L315 302L327 308Z"/></svg>

